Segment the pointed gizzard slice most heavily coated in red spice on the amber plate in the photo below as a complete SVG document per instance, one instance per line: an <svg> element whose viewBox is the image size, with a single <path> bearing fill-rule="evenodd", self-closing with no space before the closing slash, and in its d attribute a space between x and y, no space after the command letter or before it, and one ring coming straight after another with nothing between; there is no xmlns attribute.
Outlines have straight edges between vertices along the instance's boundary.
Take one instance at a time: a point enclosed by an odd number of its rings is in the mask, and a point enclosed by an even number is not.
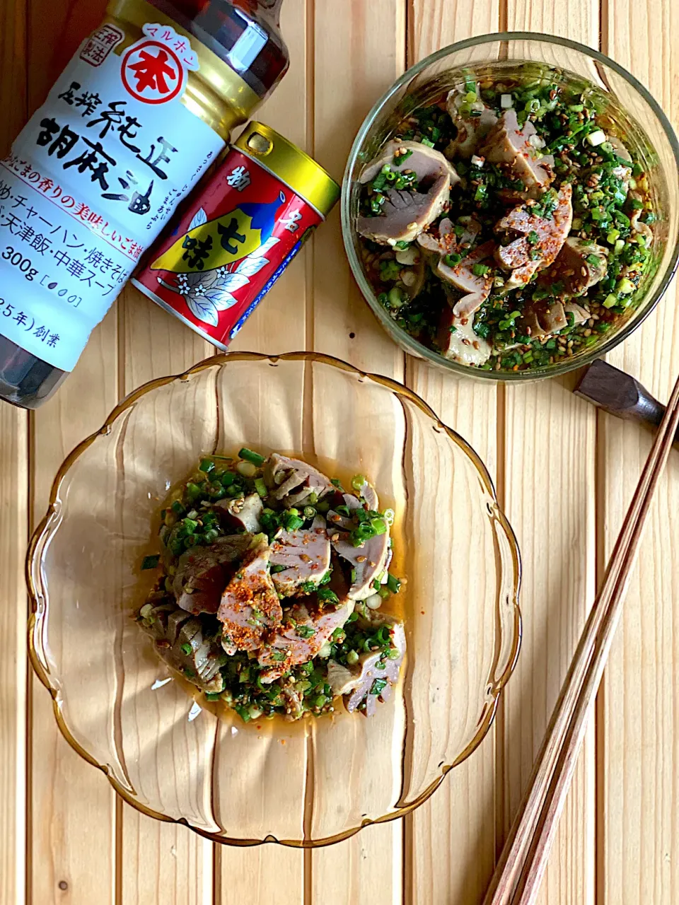
<svg viewBox="0 0 679 905"><path fill-rule="evenodd" d="M224 623L226 653L258 650L266 633L281 624L281 601L269 574L271 552L263 535L224 589L217 619Z"/></svg>

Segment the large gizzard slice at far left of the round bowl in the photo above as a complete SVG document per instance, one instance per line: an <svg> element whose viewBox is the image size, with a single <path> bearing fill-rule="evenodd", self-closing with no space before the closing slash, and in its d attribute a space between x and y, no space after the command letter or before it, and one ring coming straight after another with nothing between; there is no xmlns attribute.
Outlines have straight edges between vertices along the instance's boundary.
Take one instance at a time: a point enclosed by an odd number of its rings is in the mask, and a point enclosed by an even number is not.
<svg viewBox="0 0 679 905"><path fill-rule="evenodd" d="M403 163L394 163L398 150L412 151ZM398 158L397 158L398 159ZM412 170L417 179L417 191L387 189L382 214L359 216L357 230L361 235L383 245L412 242L419 233L441 214L450 198L450 189L460 181L452 164L444 155L418 141L390 141L378 157L364 168L359 181L370 182L382 167Z"/></svg>

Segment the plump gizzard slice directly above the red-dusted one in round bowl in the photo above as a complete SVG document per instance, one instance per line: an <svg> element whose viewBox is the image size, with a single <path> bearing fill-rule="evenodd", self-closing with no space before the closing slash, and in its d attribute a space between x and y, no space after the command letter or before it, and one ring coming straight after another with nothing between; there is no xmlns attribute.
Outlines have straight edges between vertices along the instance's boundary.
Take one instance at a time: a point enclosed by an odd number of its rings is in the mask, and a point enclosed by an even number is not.
<svg viewBox="0 0 679 905"><path fill-rule="evenodd" d="M478 153L490 163L497 164L505 176L521 179L525 191L523 197L537 198L554 178L554 157L540 155L535 126L527 119L519 128L516 110L506 110L488 133Z"/></svg>

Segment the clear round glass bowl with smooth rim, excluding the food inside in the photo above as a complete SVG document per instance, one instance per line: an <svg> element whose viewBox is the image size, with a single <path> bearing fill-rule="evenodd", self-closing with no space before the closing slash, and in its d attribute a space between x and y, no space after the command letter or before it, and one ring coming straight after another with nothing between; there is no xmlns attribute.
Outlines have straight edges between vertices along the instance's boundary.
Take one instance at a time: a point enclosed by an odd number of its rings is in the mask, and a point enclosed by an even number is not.
<svg viewBox="0 0 679 905"><path fill-rule="evenodd" d="M630 139L627 147L635 151L646 165L654 209L658 214L654 225L652 266L636 292L636 308L631 316L615 331L602 335L600 342L578 354L553 365L526 371L484 371L448 361L398 327L378 302L363 270L360 240L355 229L360 171L368 160L375 157L378 148L395 134L398 122L412 110L453 88L461 81L463 73L470 73L473 79L479 76L483 79L487 77L489 67L496 81L501 81L501 73L517 76L530 71L538 75L543 74L545 69L556 69L561 72L560 81L586 80L594 85L607 104L607 113L625 129ZM368 305L401 348L458 376L532 381L565 374L601 357L629 336L662 298L674 276L679 258L679 144L665 113L641 82L603 53L550 34L484 34L432 53L406 71L378 100L351 148L344 173L341 207L342 234L351 270Z"/></svg>

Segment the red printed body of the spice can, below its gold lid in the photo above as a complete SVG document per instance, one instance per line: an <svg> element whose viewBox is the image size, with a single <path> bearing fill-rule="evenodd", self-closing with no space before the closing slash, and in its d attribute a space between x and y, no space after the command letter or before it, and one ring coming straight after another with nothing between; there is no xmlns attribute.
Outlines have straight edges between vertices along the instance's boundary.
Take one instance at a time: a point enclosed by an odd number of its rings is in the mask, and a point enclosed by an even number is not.
<svg viewBox="0 0 679 905"><path fill-rule="evenodd" d="M321 219L280 179L232 148L206 189L148 252L133 282L226 348Z"/></svg>

